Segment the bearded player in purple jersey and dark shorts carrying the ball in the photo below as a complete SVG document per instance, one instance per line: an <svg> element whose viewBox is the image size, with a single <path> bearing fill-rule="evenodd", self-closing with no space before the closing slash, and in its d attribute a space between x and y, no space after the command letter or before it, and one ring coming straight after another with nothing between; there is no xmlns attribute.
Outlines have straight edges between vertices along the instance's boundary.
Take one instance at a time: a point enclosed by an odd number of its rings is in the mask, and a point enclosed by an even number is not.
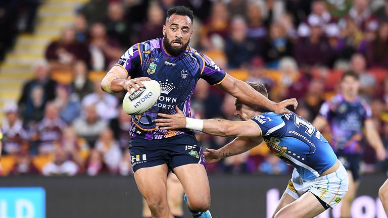
<svg viewBox="0 0 388 218"><path fill-rule="evenodd" d="M297 106L296 99L280 103L268 100L244 82L225 73L209 57L190 47L193 14L186 7L167 11L163 38L137 43L130 47L107 73L101 87L109 93L129 91L141 80L156 80L161 96L149 111L131 119L129 152L134 178L146 199L153 217L172 218L167 204L166 176L171 169L187 195L192 217L211 217L210 187L205 159L193 131L161 130L154 120L158 113L174 114L175 106L190 116L190 96L199 79L230 93L242 102L262 105L275 113L288 113L287 105ZM128 78L131 79L128 79Z"/></svg>

